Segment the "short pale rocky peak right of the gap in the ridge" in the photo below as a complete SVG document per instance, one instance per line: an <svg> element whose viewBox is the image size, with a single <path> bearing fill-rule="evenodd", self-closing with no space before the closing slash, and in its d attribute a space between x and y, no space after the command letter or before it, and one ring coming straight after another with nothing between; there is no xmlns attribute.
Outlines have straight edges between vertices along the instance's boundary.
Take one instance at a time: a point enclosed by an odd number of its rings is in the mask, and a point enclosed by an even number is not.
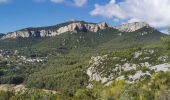
<svg viewBox="0 0 170 100"><path fill-rule="evenodd" d="M149 24L145 22L133 22L133 23L122 24L114 28L118 29L119 31L123 31L123 32L133 32L143 27L150 27L150 26Z"/></svg>

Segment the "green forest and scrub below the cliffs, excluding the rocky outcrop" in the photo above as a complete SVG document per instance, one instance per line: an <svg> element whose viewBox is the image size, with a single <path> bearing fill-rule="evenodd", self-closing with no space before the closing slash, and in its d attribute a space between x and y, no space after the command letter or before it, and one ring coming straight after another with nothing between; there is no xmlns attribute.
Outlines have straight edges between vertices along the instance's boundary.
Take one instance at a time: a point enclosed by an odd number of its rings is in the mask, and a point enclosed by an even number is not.
<svg viewBox="0 0 170 100"><path fill-rule="evenodd" d="M24 84L29 88L18 93L0 92L0 99L152 100L168 98L170 74L163 72L155 73L151 78L134 84L113 80L108 87L100 82L94 82L93 88L86 88L89 82L86 70L92 56L109 54L131 59L131 54L135 50L148 48L156 49L160 55L164 55L165 50L160 42L162 36L166 35L144 27L130 33L108 28L97 33L64 33L50 38L0 40L2 50L0 84ZM167 39L163 40L167 44ZM18 53L15 53L16 50ZM25 60L18 56L24 56L26 59L44 58L44 60L25 63ZM47 93L37 89L55 90L57 93Z"/></svg>

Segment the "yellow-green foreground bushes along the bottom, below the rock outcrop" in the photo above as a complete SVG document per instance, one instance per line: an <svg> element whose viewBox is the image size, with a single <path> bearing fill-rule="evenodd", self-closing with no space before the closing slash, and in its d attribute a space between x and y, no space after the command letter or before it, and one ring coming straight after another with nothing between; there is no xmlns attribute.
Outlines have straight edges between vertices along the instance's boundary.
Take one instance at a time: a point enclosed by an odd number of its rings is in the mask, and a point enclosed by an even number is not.
<svg viewBox="0 0 170 100"><path fill-rule="evenodd" d="M17 94L0 92L0 97L2 100L168 100L169 78L169 73L161 72L133 85L124 81L113 81L110 86L103 87L96 83L92 89L78 89L73 95L68 92L52 94L32 89Z"/></svg>

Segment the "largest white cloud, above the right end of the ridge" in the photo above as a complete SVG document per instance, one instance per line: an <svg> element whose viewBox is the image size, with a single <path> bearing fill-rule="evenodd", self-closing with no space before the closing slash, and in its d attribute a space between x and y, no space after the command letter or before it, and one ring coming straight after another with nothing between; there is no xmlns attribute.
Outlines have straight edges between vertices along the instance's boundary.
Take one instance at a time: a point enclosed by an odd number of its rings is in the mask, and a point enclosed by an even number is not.
<svg viewBox="0 0 170 100"><path fill-rule="evenodd" d="M170 0L124 0L116 3L110 0L106 5L95 4L93 16L104 16L127 20L143 21L156 28L170 26Z"/></svg>

